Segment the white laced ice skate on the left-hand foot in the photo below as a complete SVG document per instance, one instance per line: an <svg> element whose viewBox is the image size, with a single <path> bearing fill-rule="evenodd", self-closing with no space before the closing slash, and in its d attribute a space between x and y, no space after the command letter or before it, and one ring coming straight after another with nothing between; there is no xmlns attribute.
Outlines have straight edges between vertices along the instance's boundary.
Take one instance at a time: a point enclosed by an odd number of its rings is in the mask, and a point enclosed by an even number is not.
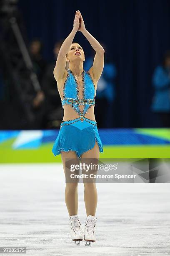
<svg viewBox="0 0 170 256"><path fill-rule="evenodd" d="M72 241L75 241L75 244L80 246L80 241L83 240L83 232L82 225L77 214L70 216L70 235Z"/></svg>

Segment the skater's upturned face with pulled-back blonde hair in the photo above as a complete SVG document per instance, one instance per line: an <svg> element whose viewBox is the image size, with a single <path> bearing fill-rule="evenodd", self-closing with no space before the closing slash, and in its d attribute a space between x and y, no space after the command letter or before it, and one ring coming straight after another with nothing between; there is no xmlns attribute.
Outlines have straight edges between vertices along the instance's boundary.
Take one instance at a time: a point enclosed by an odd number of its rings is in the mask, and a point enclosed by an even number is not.
<svg viewBox="0 0 170 256"><path fill-rule="evenodd" d="M71 44L70 50L67 52L67 61L85 61L85 54L82 47L79 44Z"/></svg>

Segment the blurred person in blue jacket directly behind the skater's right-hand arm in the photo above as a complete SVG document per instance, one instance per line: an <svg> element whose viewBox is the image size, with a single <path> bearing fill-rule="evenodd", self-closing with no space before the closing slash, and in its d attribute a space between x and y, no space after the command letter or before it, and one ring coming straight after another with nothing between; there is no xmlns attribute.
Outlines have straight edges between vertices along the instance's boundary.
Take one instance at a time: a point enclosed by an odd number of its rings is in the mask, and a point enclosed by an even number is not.
<svg viewBox="0 0 170 256"><path fill-rule="evenodd" d="M115 100L115 77L117 74L115 64L109 61L105 44L100 43L105 49L105 64L102 75L97 83L97 92L95 97L95 118L100 128L113 127L113 113ZM84 69L88 71L93 65L93 56L85 59ZM111 117L111 118L110 118Z"/></svg>

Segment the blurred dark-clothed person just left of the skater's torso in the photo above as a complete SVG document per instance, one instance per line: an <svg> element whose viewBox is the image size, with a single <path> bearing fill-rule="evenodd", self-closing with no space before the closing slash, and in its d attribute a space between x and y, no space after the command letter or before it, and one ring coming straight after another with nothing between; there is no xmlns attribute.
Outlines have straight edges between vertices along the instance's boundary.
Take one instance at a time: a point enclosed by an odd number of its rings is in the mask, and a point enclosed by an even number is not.
<svg viewBox="0 0 170 256"><path fill-rule="evenodd" d="M42 79L42 90L45 93L47 108L47 128L58 128L63 118L60 94L57 90L57 82L54 78L55 62L62 45L62 40L55 43L53 53L54 61L47 65Z"/></svg>

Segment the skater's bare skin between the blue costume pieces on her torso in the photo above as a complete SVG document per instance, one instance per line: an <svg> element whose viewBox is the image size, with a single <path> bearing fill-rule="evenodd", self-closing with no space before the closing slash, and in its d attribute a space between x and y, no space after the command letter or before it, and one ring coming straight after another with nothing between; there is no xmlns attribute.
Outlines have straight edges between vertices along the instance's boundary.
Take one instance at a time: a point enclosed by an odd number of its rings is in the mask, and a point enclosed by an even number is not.
<svg viewBox="0 0 170 256"><path fill-rule="evenodd" d="M63 100L63 87L64 87L64 82L65 79L67 77L67 72L65 72L65 76L63 77L62 81L59 83L58 85L58 92L60 94L61 100ZM79 90L79 98L82 99L83 98L83 92L82 92L82 76L80 76L80 78L77 79L77 83L78 83L78 90ZM95 83L94 83L95 84ZM97 87L97 84L95 84L95 88ZM80 111L82 112L83 110L83 105L79 105ZM64 105L63 106L64 109L64 116L63 116L63 121L67 121L67 120L71 120L71 119L75 119L75 118L80 118L80 115L77 114L77 112L72 108L71 105ZM94 113L94 105L91 105L90 108L88 109L87 113L84 115L85 118L91 119L91 120L95 120L95 113Z"/></svg>

